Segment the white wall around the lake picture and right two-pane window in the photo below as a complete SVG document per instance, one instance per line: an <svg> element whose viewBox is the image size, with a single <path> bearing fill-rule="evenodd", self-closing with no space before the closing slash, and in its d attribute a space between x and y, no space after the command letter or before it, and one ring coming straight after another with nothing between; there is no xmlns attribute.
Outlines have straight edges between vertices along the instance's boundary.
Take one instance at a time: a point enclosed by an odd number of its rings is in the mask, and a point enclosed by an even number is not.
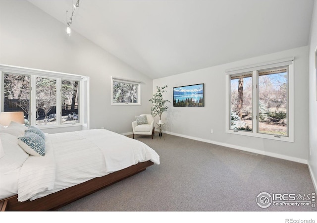
<svg viewBox="0 0 317 223"><path fill-rule="evenodd" d="M225 133L225 70L294 56L294 143ZM173 87L205 84L205 107L170 108L162 118L171 134L230 146L273 157L307 163L308 159L308 47L258 56L246 60L155 79L156 86L168 85L165 98L173 101ZM214 133L211 134L211 129Z"/></svg>

